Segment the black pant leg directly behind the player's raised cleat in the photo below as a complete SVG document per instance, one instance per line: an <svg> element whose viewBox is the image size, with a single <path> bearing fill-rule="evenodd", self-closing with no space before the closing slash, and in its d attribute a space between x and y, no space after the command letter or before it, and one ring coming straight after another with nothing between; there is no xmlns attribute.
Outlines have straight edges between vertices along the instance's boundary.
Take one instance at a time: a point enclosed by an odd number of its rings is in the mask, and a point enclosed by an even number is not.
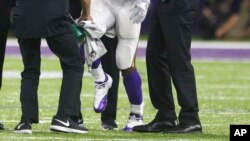
<svg viewBox="0 0 250 141"><path fill-rule="evenodd" d="M106 36L101 38L103 44L107 49L107 53L101 58L103 70L108 73L112 79L112 87L108 91L108 105L101 113L101 120L116 120L117 113L117 97L120 71L116 65L115 52L117 48L117 38L108 38Z"/></svg>

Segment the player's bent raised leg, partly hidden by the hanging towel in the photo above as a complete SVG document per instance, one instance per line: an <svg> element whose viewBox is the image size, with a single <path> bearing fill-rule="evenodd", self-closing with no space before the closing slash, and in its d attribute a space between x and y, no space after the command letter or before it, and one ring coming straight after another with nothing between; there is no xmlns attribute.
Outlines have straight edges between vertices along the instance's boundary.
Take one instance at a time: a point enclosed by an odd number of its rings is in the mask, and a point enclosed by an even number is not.
<svg viewBox="0 0 250 141"><path fill-rule="evenodd" d="M112 28L115 19L105 1L92 0L90 10L95 23L104 25L107 29ZM113 80L103 71L100 59L96 60L91 68L90 73L95 81L94 110L99 113L104 111L107 106L107 94Z"/></svg>

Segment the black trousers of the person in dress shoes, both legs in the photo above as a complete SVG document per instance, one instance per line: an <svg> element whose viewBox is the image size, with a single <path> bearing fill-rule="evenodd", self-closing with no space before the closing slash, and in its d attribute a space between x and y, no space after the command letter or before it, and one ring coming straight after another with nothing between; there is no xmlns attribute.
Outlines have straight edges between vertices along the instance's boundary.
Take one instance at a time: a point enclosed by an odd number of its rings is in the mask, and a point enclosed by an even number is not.
<svg viewBox="0 0 250 141"><path fill-rule="evenodd" d="M171 83L181 107L180 123L200 123L194 68L191 64L191 27L198 0L159 2L151 19L146 51L150 99L157 120L177 119Z"/></svg>

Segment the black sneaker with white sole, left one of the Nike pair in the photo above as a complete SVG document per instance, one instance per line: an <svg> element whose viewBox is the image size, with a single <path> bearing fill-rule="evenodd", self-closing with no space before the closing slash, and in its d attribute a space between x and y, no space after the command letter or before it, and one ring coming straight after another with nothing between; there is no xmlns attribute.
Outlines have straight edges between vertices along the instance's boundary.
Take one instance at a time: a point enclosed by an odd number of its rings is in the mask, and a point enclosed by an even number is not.
<svg viewBox="0 0 250 141"><path fill-rule="evenodd" d="M31 125L32 125L32 123L29 121L21 121L15 127L14 132L21 133L21 134L32 134Z"/></svg>

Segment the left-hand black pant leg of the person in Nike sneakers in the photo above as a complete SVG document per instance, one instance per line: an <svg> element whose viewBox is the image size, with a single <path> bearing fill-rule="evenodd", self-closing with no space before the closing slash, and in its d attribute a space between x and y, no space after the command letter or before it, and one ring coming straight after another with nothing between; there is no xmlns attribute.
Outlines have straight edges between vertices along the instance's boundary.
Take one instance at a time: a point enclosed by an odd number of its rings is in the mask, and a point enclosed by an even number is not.
<svg viewBox="0 0 250 141"><path fill-rule="evenodd" d="M21 107L22 119L38 123L38 85L40 76L40 39L19 39L20 51L24 64L21 73Z"/></svg>

